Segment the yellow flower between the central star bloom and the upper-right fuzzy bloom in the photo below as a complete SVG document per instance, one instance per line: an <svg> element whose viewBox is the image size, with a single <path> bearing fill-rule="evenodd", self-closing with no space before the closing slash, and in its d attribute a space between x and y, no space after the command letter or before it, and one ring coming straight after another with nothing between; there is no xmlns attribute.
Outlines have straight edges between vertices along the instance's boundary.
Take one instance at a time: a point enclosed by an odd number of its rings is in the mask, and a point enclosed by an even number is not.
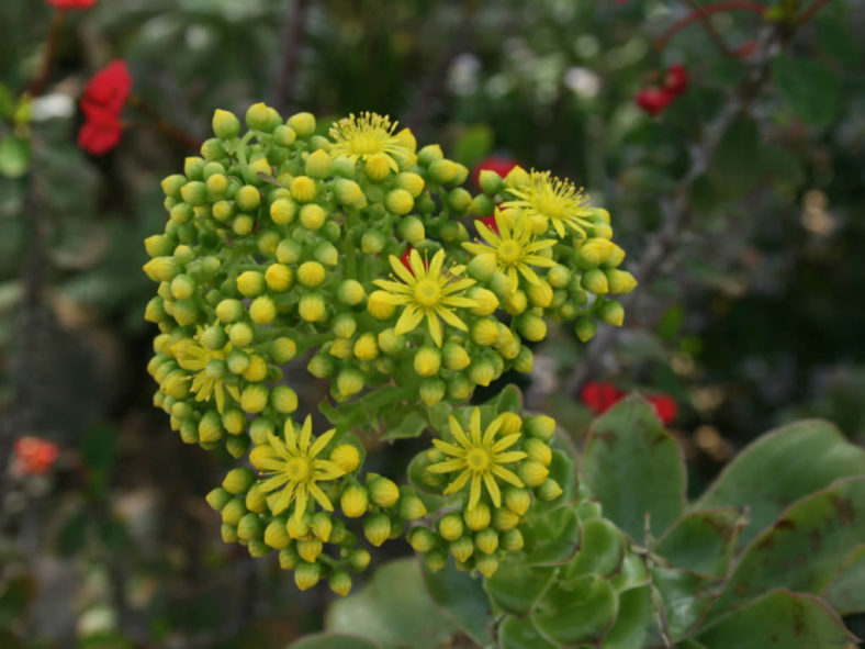
<svg viewBox="0 0 865 649"><path fill-rule="evenodd" d="M492 246L496 257L497 269L507 275L513 290L517 289L519 281L517 271L529 283L541 283L541 280L535 275L530 266L544 266L547 268L555 266L555 261L551 258L538 255L541 250L554 246L555 240L531 240L531 220L525 212L521 212L517 216L516 222L512 224L509 219L503 217L502 213L496 210L495 224L498 226L498 233L487 227L481 221L475 221L474 226L488 245L468 243L462 244L462 247L475 255L488 255Z"/></svg>

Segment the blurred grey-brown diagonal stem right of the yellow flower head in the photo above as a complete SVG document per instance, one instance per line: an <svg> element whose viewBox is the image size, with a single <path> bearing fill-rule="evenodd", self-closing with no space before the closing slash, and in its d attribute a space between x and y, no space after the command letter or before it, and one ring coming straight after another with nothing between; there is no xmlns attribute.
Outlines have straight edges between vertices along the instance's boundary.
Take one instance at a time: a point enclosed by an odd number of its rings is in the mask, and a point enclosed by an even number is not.
<svg viewBox="0 0 865 649"><path fill-rule="evenodd" d="M673 194L662 201L663 214L661 228L654 233L642 256L639 266L633 270L638 286L621 300L626 311L632 307L641 294L651 286L662 269L682 233L687 230L693 215L690 211L690 191L694 182L709 168L711 158L718 149L723 135L739 115L745 112L765 83L771 64L779 45L789 36L779 26L766 26L761 34L760 58L754 63L751 74L730 94L721 112L704 131L704 137L690 149L690 168L679 181ZM620 328L606 327L586 349L583 361L577 365L564 382L564 393L574 394L589 377L594 376L603 355L621 335Z"/></svg>

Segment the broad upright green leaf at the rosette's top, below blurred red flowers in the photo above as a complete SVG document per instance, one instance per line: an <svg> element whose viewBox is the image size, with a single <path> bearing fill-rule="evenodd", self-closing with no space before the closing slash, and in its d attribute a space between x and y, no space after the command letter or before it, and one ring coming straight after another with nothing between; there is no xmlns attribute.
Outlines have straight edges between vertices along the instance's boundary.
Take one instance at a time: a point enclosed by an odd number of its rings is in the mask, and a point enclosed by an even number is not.
<svg viewBox="0 0 865 649"><path fill-rule="evenodd" d="M583 474L604 515L633 539L643 539L647 515L652 534L660 536L685 506L678 445L639 396L619 402L595 422Z"/></svg>

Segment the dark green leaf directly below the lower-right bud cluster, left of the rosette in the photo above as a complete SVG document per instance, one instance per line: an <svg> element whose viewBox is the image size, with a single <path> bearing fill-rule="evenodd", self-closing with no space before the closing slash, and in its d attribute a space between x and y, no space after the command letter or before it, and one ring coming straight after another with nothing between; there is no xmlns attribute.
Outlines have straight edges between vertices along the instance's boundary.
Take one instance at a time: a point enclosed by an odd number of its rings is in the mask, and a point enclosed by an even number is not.
<svg viewBox="0 0 865 649"><path fill-rule="evenodd" d="M493 641L493 613L480 579L460 572L448 561L438 572L423 567L424 581L438 604L472 640L479 645Z"/></svg>

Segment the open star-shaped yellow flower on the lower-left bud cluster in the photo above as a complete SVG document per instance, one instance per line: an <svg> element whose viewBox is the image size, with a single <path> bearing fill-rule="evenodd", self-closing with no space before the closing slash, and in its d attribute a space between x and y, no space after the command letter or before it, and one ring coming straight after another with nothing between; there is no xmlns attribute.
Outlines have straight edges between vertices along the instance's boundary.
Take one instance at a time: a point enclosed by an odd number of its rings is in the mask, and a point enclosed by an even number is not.
<svg viewBox="0 0 865 649"><path fill-rule="evenodd" d="M266 474L258 484L265 492L272 492L267 499L273 515L280 514L294 503L294 519L300 522L306 513L310 496L328 512L334 511L329 499L316 484L322 480L334 480L346 471L332 460L317 458L334 437L336 428L312 438L313 421L307 416L300 435L291 419L285 422L282 438L268 433L267 444L256 446L249 454L251 465Z"/></svg>

